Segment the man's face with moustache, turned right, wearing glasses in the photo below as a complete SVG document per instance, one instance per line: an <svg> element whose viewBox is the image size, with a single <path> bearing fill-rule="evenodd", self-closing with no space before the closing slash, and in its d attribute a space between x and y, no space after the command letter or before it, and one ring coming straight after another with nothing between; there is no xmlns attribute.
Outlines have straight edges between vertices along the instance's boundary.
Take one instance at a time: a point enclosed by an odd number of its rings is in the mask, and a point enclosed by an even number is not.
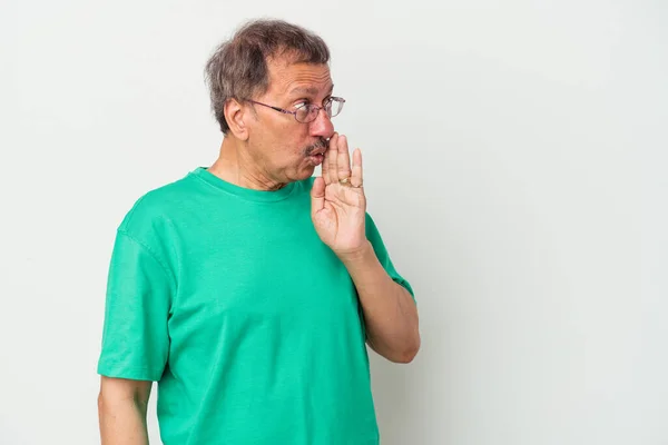
<svg viewBox="0 0 668 445"><path fill-rule="evenodd" d="M269 60L269 87L266 93L254 98L273 107L295 111L299 103L323 106L332 96L333 83L326 65L291 63L286 59ZM278 182L310 178L322 162L326 140L334 127L324 110L308 123L297 122L267 107L254 105L255 112L248 126L247 148L264 174Z"/></svg>

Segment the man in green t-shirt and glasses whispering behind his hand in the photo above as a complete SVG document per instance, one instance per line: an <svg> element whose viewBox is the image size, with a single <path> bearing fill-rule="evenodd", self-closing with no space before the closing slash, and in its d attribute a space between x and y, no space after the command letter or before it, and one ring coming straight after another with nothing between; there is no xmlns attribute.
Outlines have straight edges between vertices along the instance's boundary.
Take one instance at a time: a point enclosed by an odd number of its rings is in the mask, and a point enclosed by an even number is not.
<svg viewBox="0 0 668 445"><path fill-rule="evenodd" d="M418 312L366 214L362 155L351 166L334 132L328 60L320 37L255 21L208 61L219 158L118 228L102 444L148 442L151 382L166 445L379 443L365 342L411 362Z"/></svg>

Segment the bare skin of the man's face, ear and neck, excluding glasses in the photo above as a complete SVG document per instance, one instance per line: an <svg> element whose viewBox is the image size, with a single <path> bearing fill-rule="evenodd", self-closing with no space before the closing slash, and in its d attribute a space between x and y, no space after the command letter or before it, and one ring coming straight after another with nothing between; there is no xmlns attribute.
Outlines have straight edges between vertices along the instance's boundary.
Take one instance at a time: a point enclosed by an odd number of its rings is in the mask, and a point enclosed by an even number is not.
<svg viewBox="0 0 668 445"><path fill-rule="evenodd" d="M253 99L294 110L304 100L321 105L333 83L327 66L268 60L269 88ZM310 178L316 164L305 155L325 150L334 126L321 111L311 123L297 122L292 115L229 100L225 107L229 131L220 156L209 171L240 187L276 190L286 184Z"/></svg>

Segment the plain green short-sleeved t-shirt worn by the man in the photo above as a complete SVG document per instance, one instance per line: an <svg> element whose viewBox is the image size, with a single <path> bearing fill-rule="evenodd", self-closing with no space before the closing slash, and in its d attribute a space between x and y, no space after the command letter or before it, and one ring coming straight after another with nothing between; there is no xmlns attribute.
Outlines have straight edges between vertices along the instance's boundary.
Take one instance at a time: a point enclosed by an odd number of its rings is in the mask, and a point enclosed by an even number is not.
<svg viewBox="0 0 668 445"><path fill-rule="evenodd" d="M313 179L261 191L200 167L120 224L98 373L158 382L166 445L379 443L361 306L313 227ZM366 236L413 295L369 215Z"/></svg>

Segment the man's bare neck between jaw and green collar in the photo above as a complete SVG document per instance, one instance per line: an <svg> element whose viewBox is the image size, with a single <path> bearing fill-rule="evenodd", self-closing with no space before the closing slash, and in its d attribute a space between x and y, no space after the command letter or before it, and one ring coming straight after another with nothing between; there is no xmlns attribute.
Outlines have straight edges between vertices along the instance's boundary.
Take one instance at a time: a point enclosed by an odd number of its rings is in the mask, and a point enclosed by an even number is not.
<svg viewBox="0 0 668 445"><path fill-rule="evenodd" d="M257 162L245 154L238 145L224 138L220 145L220 156L208 168L218 178L243 188L254 190L278 190L286 186L271 179Z"/></svg>

